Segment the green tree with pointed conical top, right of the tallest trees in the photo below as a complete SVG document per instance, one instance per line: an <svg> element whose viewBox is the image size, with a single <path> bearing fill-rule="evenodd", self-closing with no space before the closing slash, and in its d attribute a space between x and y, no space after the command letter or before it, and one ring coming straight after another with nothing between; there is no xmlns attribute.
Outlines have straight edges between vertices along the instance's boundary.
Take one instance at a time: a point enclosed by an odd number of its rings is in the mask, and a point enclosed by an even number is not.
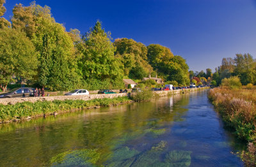
<svg viewBox="0 0 256 167"><path fill-rule="evenodd" d="M84 36L84 46L81 50L83 55L79 60L84 80L110 79L113 84L122 83L123 85L124 66L116 59L115 47L110 39L110 33L105 33L99 21Z"/></svg>

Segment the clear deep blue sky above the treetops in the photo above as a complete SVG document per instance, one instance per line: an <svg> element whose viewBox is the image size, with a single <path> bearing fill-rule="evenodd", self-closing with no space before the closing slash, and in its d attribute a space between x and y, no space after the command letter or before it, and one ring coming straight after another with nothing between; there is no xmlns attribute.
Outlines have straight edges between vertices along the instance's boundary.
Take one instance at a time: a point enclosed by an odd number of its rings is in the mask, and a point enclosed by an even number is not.
<svg viewBox="0 0 256 167"><path fill-rule="evenodd" d="M17 3L6 0L4 17ZM145 45L158 43L186 59L189 69L221 65L223 57L250 53L256 57L256 0L38 0L51 7L56 22L82 34L99 19L115 38L132 38Z"/></svg>

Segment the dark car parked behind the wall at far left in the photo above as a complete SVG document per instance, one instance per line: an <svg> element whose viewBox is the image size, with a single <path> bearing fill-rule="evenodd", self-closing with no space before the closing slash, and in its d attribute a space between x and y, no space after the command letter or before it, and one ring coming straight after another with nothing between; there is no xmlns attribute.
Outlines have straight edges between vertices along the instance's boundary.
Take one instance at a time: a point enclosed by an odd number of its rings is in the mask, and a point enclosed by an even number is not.
<svg viewBox="0 0 256 167"><path fill-rule="evenodd" d="M12 91L0 94L0 98L22 98L34 96L33 91L35 88L32 87L18 87L12 89Z"/></svg>

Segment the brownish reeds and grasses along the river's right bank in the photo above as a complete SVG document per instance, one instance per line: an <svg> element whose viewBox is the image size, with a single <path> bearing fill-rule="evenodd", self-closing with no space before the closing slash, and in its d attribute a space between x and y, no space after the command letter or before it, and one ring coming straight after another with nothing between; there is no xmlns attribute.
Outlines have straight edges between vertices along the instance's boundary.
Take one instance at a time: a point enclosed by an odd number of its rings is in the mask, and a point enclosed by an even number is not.
<svg viewBox="0 0 256 167"><path fill-rule="evenodd" d="M225 124L248 142L248 149L239 153L241 159L246 166L256 166L256 88L214 88L209 99Z"/></svg>

